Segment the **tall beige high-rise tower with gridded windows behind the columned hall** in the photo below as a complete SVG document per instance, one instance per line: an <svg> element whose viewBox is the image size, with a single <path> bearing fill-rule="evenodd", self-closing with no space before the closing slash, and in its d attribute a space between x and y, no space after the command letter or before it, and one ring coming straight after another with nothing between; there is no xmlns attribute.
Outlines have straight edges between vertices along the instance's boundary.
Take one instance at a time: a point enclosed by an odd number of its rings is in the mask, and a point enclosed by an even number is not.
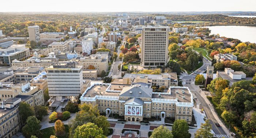
<svg viewBox="0 0 256 138"><path fill-rule="evenodd" d="M141 36L142 66L164 66L168 62L169 27L143 27Z"/></svg>

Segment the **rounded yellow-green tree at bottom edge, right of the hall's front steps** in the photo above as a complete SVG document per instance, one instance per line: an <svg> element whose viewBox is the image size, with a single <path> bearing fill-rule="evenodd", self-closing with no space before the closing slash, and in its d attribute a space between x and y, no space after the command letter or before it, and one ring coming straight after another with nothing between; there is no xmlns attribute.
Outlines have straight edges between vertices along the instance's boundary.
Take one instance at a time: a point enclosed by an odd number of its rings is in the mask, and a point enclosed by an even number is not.
<svg viewBox="0 0 256 138"><path fill-rule="evenodd" d="M162 125L153 130L150 138L173 138L172 131Z"/></svg>

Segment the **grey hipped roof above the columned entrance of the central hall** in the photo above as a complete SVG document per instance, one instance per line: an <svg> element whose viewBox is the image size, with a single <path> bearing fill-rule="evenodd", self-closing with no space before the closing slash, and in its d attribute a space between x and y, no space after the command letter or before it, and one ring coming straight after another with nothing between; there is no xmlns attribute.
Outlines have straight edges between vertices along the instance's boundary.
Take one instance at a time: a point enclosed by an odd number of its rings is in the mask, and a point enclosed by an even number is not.
<svg viewBox="0 0 256 138"><path fill-rule="evenodd" d="M143 88L143 87L125 87L121 91L119 96L127 96L127 97L152 97L152 88Z"/></svg>

